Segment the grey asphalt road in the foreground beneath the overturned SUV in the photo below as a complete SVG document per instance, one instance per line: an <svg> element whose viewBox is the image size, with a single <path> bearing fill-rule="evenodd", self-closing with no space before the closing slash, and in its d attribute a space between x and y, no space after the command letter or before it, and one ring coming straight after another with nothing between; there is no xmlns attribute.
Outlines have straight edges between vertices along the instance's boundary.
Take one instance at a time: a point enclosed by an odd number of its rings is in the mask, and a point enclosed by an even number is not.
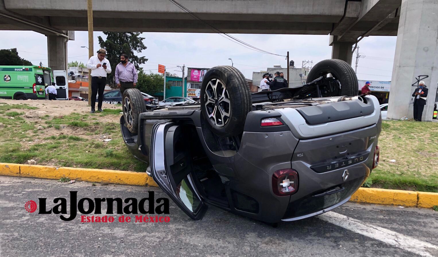
<svg viewBox="0 0 438 257"><path fill-rule="evenodd" d="M69 202L69 191L141 199L148 190L166 197L159 188L0 177L0 256L438 256L438 212L428 209L347 203L273 228L212 206L194 222L173 202L169 223L65 222L24 208L39 197L50 207L56 197Z"/></svg>

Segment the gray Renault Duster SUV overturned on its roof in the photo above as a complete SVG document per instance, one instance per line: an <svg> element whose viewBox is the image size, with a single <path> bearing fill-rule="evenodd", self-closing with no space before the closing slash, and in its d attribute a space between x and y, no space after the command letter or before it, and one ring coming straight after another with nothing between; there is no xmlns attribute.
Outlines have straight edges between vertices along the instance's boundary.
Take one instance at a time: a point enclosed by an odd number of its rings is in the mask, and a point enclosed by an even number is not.
<svg viewBox="0 0 438 257"><path fill-rule="evenodd" d="M252 93L235 67L210 69L200 103L145 106L123 95L131 153L191 218L212 204L268 223L319 215L348 201L378 165L378 100L357 95L341 60L315 65L299 88ZM148 109L148 110L146 110Z"/></svg>

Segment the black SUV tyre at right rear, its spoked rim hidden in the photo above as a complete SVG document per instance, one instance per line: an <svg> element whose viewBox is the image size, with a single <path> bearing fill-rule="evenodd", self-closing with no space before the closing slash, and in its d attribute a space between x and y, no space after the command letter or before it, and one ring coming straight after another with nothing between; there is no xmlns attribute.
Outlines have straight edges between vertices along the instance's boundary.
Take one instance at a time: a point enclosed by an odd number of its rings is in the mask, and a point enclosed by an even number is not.
<svg viewBox="0 0 438 257"><path fill-rule="evenodd" d="M306 83L312 82L322 76L334 77L336 81L339 82L339 88L336 88L335 90L331 90L332 87L329 85L320 86L319 89L323 97L357 95L359 85L356 73L347 62L338 59L328 59L316 63L307 75ZM312 97L316 96L312 95Z"/></svg>

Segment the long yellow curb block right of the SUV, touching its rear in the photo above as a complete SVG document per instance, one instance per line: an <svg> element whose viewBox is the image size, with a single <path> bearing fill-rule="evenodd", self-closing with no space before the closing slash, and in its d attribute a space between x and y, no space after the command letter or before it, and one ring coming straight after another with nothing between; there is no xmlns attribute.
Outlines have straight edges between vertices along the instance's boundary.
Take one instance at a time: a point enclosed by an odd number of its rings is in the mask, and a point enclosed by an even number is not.
<svg viewBox="0 0 438 257"><path fill-rule="evenodd" d="M351 196L350 201L368 204L416 207L417 194L418 193L414 191L360 187L356 193Z"/></svg>

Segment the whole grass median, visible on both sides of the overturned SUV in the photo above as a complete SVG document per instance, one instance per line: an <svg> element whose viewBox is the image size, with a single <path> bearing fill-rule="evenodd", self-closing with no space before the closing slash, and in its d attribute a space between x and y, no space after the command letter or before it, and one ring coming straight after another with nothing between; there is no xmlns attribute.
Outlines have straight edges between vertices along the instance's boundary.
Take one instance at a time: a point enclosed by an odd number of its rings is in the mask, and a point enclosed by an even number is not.
<svg viewBox="0 0 438 257"><path fill-rule="evenodd" d="M40 165L146 170L147 164L134 158L124 145L118 124L120 106L102 113L68 115L53 114L48 109L36 117L26 117L29 111L41 110L25 103L0 103L0 123L4 124L0 128L0 162L35 159ZM380 164L367 186L438 192L437 135L438 123L383 121Z"/></svg>

